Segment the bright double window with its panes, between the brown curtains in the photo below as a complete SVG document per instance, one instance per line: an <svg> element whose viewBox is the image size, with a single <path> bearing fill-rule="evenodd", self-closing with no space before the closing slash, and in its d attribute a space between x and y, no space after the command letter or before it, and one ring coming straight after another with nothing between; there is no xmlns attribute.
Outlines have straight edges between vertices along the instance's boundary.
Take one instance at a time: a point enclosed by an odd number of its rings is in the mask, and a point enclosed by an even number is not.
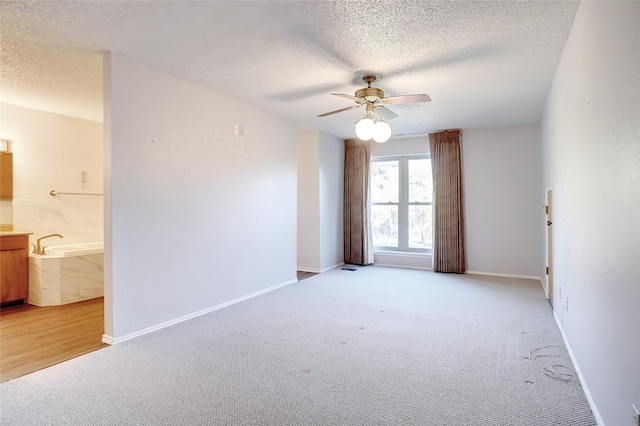
<svg viewBox="0 0 640 426"><path fill-rule="evenodd" d="M371 227L375 249L431 251L432 203L429 157L371 161Z"/></svg>

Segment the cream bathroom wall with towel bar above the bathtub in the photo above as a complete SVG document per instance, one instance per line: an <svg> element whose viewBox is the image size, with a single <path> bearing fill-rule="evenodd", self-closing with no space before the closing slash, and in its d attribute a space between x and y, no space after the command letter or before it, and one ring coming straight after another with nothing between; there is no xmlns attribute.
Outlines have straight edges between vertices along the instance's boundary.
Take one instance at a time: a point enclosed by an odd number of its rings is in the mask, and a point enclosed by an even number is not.
<svg viewBox="0 0 640 426"><path fill-rule="evenodd" d="M31 243L59 233L47 245L102 241L103 198L49 191L103 190L102 123L1 104L0 137L13 152L13 225L32 232ZM88 172L88 185L81 183Z"/></svg>

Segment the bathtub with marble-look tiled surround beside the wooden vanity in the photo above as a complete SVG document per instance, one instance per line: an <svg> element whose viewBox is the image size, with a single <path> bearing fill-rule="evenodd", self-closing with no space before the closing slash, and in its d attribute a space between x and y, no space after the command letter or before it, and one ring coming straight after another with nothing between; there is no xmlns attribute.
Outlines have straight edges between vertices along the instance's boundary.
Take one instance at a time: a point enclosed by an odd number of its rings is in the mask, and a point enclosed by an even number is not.
<svg viewBox="0 0 640 426"><path fill-rule="evenodd" d="M104 295L104 243L49 246L29 255L29 303L56 306Z"/></svg>

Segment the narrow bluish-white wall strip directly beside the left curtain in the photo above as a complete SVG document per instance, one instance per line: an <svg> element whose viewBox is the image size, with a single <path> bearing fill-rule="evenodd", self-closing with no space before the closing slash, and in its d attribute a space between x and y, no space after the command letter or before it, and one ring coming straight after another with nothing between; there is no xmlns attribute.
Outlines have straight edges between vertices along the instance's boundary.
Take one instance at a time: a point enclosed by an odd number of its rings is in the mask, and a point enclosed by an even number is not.
<svg viewBox="0 0 640 426"><path fill-rule="evenodd" d="M320 270L344 262L344 140L319 132Z"/></svg>

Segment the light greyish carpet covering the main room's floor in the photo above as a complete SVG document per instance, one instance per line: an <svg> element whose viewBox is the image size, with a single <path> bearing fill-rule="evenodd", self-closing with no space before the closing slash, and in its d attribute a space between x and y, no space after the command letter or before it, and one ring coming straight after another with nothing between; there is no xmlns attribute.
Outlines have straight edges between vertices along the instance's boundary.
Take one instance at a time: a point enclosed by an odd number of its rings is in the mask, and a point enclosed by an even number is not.
<svg viewBox="0 0 640 426"><path fill-rule="evenodd" d="M4 425L596 424L538 281L373 266L3 383L1 397Z"/></svg>

